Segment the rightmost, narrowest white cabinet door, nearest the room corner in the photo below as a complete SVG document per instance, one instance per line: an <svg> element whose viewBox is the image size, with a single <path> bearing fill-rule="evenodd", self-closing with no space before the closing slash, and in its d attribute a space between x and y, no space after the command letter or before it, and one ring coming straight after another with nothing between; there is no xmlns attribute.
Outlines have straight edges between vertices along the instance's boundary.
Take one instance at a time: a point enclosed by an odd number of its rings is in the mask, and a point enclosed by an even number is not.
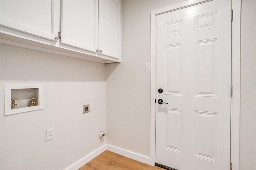
<svg viewBox="0 0 256 170"><path fill-rule="evenodd" d="M121 2L99 0L99 42L102 54L120 58L121 51Z"/></svg>

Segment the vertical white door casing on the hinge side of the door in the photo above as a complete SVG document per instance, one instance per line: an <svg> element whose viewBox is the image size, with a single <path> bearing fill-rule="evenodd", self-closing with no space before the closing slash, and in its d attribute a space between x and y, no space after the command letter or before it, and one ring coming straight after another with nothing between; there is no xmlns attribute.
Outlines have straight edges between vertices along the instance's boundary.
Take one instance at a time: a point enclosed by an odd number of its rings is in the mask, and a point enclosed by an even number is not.
<svg viewBox="0 0 256 170"><path fill-rule="evenodd" d="M240 48L241 0L232 0L232 86L231 104L231 161L232 170L240 170Z"/></svg>

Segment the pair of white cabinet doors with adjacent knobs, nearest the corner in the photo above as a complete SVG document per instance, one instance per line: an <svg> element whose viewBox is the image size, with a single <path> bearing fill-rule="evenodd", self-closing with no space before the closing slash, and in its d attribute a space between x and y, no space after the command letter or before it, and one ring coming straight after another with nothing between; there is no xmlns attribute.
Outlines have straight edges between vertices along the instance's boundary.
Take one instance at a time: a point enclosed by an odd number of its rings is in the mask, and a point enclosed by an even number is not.
<svg viewBox="0 0 256 170"><path fill-rule="evenodd" d="M120 59L120 40L119 0L62 0L63 44Z"/></svg>

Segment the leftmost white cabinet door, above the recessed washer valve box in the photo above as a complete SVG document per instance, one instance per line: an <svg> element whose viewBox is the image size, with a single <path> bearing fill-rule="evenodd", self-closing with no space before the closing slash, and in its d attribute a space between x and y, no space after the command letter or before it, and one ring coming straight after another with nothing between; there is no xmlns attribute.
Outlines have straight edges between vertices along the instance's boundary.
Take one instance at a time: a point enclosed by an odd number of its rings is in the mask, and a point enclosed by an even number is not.
<svg viewBox="0 0 256 170"><path fill-rule="evenodd" d="M60 0L0 0L0 25L54 40L60 29ZM3 30L1 30L3 32Z"/></svg>

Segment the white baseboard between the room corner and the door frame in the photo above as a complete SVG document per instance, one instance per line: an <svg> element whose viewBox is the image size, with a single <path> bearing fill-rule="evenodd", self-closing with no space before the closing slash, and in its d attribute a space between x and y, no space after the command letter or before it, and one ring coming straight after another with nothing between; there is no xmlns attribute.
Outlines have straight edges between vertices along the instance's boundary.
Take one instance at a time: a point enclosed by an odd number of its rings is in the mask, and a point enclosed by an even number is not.
<svg viewBox="0 0 256 170"><path fill-rule="evenodd" d="M118 148L116 146L106 144L106 150L109 150L109 151L114 152L116 154L120 154L122 156L126 156L126 157L134 159L134 160L138 160L138 161L143 162L145 164L150 164L150 158L149 157L143 156L143 155L140 155L140 154L136 154L134 152L130 152L128 150L124 150L124 149Z"/></svg>

